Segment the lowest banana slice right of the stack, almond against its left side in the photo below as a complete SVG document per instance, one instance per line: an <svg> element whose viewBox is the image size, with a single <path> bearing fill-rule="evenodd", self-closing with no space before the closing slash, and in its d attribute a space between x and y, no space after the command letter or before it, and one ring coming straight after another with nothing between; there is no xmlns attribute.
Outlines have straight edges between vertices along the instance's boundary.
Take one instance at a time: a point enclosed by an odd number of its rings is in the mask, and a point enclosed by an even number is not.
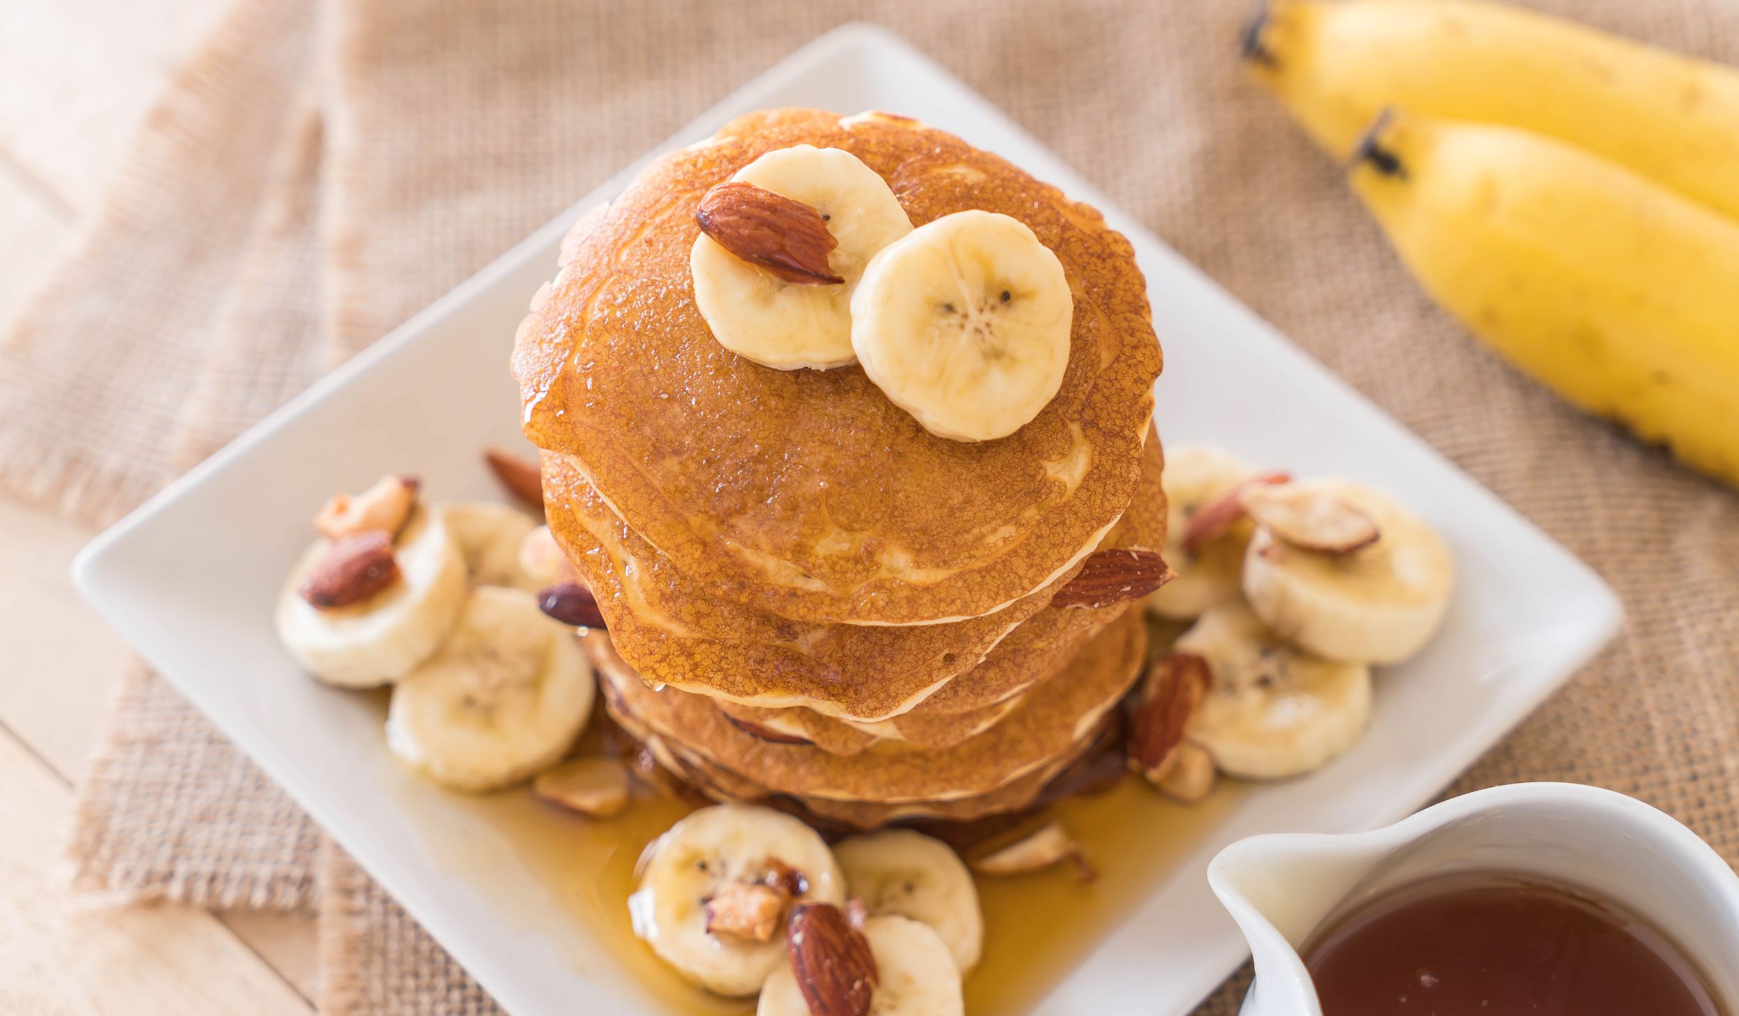
<svg viewBox="0 0 1739 1016"><path fill-rule="evenodd" d="M1282 779L1351 748L1370 719L1370 668L1287 645L1243 604L1221 604L1177 638L1207 659L1212 685L1189 739L1223 772Z"/></svg>

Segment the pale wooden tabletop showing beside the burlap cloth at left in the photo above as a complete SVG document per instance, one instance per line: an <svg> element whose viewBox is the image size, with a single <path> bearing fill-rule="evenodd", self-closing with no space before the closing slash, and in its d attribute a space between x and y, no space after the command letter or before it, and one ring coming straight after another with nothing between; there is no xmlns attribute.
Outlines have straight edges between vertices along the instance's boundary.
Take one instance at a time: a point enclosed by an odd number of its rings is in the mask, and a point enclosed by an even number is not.
<svg viewBox="0 0 1739 1016"><path fill-rule="evenodd" d="M0 318L103 193L224 0L0 0ZM90 532L0 501L0 1013L310 1016L308 917L89 912L57 884L125 647L68 579Z"/></svg>

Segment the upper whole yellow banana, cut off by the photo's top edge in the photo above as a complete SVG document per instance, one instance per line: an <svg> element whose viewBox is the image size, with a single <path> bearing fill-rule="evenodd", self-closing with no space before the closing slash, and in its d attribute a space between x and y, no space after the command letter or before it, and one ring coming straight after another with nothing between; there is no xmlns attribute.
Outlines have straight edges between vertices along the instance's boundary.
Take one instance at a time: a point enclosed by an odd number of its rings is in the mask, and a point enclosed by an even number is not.
<svg viewBox="0 0 1739 1016"><path fill-rule="evenodd" d="M1389 106L1508 124L1739 219L1739 70L1473 0L1275 0L1245 54L1336 157Z"/></svg>

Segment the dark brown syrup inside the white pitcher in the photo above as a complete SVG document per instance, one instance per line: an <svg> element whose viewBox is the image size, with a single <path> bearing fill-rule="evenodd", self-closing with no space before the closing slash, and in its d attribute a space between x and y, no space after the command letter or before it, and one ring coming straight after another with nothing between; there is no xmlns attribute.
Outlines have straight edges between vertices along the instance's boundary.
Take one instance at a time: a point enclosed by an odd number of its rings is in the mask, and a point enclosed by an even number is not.
<svg viewBox="0 0 1739 1016"><path fill-rule="evenodd" d="M1416 882L1303 952L1323 1016L1722 1016L1654 927L1511 875Z"/></svg>

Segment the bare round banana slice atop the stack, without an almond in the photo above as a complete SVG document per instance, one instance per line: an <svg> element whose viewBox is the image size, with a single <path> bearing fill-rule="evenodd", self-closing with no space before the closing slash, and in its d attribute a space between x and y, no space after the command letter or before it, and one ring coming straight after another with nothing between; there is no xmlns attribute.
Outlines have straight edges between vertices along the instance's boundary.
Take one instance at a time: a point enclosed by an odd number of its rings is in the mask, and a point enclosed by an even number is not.
<svg viewBox="0 0 1739 1016"><path fill-rule="evenodd" d="M930 433L995 440L1057 393L1073 320L1063 263L1024 223L955 212L870 261L852 294L852 348Z"/></svg>

